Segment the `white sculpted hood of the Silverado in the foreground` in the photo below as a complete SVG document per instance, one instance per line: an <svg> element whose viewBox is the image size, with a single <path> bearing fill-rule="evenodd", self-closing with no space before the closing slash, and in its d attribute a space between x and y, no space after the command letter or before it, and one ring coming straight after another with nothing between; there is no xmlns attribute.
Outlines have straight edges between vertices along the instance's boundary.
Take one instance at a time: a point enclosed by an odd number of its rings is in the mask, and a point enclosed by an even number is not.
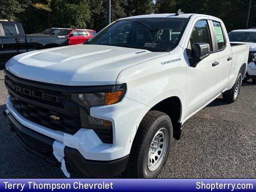
<svg viewBox="0 0 256 192"><path fill-rule="evenodd" d="M116 84L118 74L133 65L169 54L104 45L64 46L11 58L6 68L29 80L68 86Z"/></svg>

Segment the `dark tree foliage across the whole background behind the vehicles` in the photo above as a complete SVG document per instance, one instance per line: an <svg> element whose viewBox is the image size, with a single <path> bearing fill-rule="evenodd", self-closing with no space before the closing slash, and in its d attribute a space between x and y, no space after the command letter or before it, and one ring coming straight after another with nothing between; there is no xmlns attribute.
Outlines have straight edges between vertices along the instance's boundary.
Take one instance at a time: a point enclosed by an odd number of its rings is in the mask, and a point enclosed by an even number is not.
<svg viewBox="0 0 256 192"><path fill-rule="evenodd" d="M208 14L221 18L228 31L246 27L250 0L111 0L111 22L126 16L176 13ZM0 0L0 19L20 21L27 34L49 27L106 26L106 0ZM252 0L248 27L256 26Z"/></svg>

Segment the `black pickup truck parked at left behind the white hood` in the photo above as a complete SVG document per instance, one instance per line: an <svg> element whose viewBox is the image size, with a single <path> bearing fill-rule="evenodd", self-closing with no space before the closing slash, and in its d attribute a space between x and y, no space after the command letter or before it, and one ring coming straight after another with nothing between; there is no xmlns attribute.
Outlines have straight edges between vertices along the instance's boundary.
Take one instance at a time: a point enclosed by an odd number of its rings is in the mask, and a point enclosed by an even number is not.
<svg viewBox="0 0 256 192"><path fill-rule="evenodd" d="M68 36L25 35L18 22L0 21L0 63L29 51L68 45Z"/></svg>

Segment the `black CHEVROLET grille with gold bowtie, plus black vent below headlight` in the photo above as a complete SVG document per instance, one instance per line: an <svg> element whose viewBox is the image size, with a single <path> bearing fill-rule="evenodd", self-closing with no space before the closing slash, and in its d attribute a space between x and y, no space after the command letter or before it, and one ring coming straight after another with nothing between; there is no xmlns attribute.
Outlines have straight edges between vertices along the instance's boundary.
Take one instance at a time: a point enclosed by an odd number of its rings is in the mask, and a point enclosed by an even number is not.
<svg viewBox="0 0 256 192"><path fill-rule="evenodd" d="M27 120L52 130L75 134L81 126L79 107L73 92L86 92L85 86L60 86L25 80L4 71L5 86L15 110ZM91 89L91 88L90 88ZM94 130L104 143L113 143L112 130Z"/></svg>

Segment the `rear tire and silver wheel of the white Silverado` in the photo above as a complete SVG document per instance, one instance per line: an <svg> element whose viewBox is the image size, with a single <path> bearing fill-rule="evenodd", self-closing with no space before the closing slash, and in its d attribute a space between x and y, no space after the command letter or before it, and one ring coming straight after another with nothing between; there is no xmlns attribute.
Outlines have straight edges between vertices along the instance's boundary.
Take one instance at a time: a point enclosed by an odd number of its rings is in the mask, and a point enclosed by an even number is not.
<svg viewBox="0 0 256 192"><path fill-rule="evenodd" d="M241 89L241 84L242 84L242 74L241 72L239 72L232 89L225 91L222 94L223 99L229 103L235 102L238 98L238 95Z"/></svg>

